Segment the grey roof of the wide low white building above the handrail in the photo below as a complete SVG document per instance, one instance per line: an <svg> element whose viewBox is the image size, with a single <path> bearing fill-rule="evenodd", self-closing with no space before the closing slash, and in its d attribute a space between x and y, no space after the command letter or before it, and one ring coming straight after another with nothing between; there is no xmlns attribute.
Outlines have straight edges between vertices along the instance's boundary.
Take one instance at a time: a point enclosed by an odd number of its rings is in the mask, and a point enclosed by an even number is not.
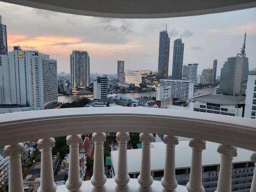
<svg viewBox="0 0 256 192"><path fill-rule="evenodd" d="M193 97L192 99L200 102L210 102L215 104L243 104L245 96L230 96L222 94L204 94Z"/></svg>

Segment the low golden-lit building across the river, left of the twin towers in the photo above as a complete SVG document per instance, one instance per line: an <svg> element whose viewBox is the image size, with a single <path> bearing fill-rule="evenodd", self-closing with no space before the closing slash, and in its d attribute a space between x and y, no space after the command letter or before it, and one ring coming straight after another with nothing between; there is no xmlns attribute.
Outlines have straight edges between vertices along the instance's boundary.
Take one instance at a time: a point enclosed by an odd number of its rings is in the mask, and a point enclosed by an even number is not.
<svg viewBox="0 0 256 192"><path fill-rule="evenodd" d="M151 70L126 70L125 71L125 83L134 84L139 86L142 83L142 76L149 74Z"/></svg>

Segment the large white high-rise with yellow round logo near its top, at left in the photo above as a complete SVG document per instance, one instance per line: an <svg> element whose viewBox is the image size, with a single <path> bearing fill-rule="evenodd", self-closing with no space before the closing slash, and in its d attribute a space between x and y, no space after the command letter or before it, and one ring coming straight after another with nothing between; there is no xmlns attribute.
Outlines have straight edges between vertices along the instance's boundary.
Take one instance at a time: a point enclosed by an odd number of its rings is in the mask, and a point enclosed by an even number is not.
<svg viewBox="0 0 256 192"><path fill-rule="evenodd" d="M0 57L0 104L37 110L57 103L56 60L19 46Z"/></svg>

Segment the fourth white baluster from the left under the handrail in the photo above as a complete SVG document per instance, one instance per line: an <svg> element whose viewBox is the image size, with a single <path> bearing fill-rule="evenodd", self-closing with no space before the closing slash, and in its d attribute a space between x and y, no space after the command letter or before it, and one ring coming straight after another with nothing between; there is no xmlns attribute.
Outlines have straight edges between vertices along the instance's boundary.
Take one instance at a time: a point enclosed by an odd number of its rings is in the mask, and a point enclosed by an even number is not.
<svg viewBox="0 0 256 192"><path fill-rule="evenodd" d="M104 191L104 184L106 182L106 175L104 174L104 156L103 156L103 143L106 140L106 133L94 132L91 140L94 142L94 162L93 162L93 175L90 182L93 185L93 192Z"/></svg>

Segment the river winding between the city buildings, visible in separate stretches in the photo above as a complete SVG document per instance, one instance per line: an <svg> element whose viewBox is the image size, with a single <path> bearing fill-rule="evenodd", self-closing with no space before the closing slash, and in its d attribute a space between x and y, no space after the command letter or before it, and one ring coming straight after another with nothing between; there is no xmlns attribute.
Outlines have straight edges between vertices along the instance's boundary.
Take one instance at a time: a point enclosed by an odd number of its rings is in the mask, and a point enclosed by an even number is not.
<svg viewBox="0 0 256 192"><path fill-rule="evenodd" d="M211 93L211 94L216 94L216 86L214 87L208 87L208 88L201 88L195 89L194 92L194 96L199 95L199 94L206 94L206 93ZM107 94L107 96L115 96L116 94ZM156 91L148 91L148 92L127 92L127 93L118 93L118 95L121 96L127 96L127 97L131 97L131 98L137 98L137 97L141 97L141 96L154 96L156 97ZM88 96L88 98L91 98L92 94L79 94L79 95L61 95L58 96L58 102L73 102L73 101L77 101L82 97Z"/></svg>

